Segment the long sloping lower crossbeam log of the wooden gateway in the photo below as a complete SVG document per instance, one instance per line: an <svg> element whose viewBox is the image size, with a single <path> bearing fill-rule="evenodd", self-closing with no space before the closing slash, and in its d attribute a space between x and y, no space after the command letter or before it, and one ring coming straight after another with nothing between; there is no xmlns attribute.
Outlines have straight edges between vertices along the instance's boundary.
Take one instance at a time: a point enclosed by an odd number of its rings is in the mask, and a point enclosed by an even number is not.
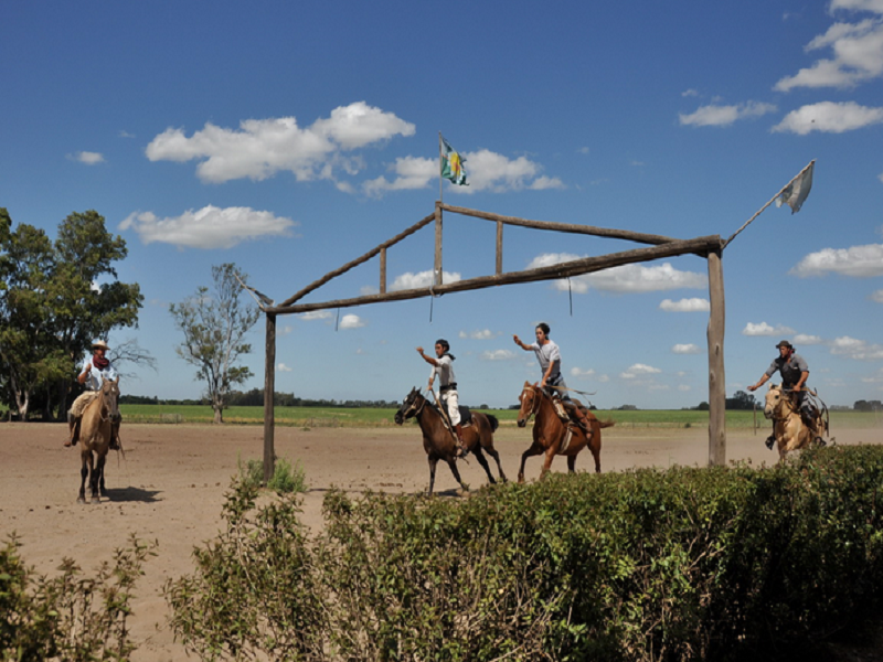
<svg viewBox="0 0 883 662"><path fill-rule="evenodd" d="M448 282L429 288L400 290L383 295L365 295L352 299L338 299L334 301L323 301L320 303L299 303L296 306L278 306L275 308L268 308L267 312L273 312L276 314L291 314L309 312L311 310L323 310L328 308L350 308L352 306L380 303L382 301L404 301L406 299L419 299L423 297L440 296L449 292L467 291L500 285L512 285L515 282L556 280L558 278L567 278L568 276L582 276L583 274L600 271L603 269L609 269L610 267L661 259L663 257L673 257L677 255L694 254L704 258L711 252L720 250L721 243L720 235L710 235L683 241L672 239L671 242L661 244L659 246L636 248L634 250L611 253L609 255L602 255L597 257L584 257L581 259L551 265L549 267L541 267L539 269L510 271L508 274L496 276L481 276L478 278L458 280L457 282Z"/></svg>

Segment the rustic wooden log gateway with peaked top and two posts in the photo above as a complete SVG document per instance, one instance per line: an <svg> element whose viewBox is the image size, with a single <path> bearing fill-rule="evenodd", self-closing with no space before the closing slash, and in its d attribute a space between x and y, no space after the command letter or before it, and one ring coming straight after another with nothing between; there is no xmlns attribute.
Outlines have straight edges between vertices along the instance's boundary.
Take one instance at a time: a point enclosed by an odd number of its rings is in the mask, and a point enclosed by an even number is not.
<svg viewBox="0 0 883 662"><path fill-rule="evenodd" d="M773 201L770 201L773 202ZM768 206L769 203L767 203ZM765 207L764 207L765 209ZM763 211L763 210L762 210ZM442 215L443 212L461 214L481 221L497 224L497 269L492 276L481 276L458 280L456 282L443 282L442 279ZM759 213L759 212L758 212ZM756 216L756 214L755 214ZM398 291L386 290L386 252L389 248L416 233L418 229L435 224L435 266L434 284L426 288L416 288ZM623 253L611 253L596 257L584 257L565 261L549 267L528 269L524 271L503 273L503 227L517 225L535 229L546 229L558 233L593 235L616 239L627 239L646 247L625 250ZM747 225L747 224L746 224ZM744 227L744 226L743 226ZM735 235L734 235L735 236ZM732 239L732 237L731 237ZM624 229L609 229L604 227L593 227L589 225L576 225L568 223L550 223L543 221L529 221L513 216L501 216L489 212L480 212L466 207L451 206L440 201L435 204L435 212L418 223L415 223L401 234L384 242L380 246L369 250L361 257L330 271L319 280L308 285L296 295L289 297L279 305L252 290L258 297L260 310L266 316L266 373L264 381L264 479L268 481L273 477L275 463L275 413L273 395L275 393L275 364L276 364L276 318L280 314L302 313L311 310L323 310L329 308L349 308L352 306L364 306L366 303L381 303L384 301L401 301L405 299L417 299L423 297L434 297L459 292L465 290L483 289L500 285L513 285L517 282L535 282L539 280L557 280L572 276L581 276L618 267L634 263L649 261L679 255L698 255L708 260L709 267L709 299L711 301L711 312L708 327L709 342L709 465L722 466L726 461L726 429L725 429L725 401L724 389L724 280L721 258L724 246L728 243L721 239L719 235L696 237L693 239L674 239L671 237L629 232ZM323 301L319 303L298 303L300 299L329 282L333 278L349 271L350 269L380 256L380 291L376 295L366 295L352 299L339 299ZM252 289L252 288L248 288Z"/></svg>

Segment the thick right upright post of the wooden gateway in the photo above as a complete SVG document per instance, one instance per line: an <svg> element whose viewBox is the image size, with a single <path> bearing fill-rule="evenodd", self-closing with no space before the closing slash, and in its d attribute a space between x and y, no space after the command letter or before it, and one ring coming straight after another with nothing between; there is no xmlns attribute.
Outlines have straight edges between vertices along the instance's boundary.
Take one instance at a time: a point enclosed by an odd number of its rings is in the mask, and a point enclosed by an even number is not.
<svg viewBox="0 0 883 662"><path fill-rule="evenodd" d="M723 250L709 253L709 466L726 463L726 380L724 376L724 273Z"/></svg>

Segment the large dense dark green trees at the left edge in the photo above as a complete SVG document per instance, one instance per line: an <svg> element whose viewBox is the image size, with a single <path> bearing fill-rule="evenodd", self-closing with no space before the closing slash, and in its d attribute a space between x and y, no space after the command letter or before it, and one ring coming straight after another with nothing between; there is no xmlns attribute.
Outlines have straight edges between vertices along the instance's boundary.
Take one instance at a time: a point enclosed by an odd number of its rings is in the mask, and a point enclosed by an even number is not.
<svg viewBox="0 0 883 662"><path fill-rule="evenodd" d="M52 242L42 229L12 227L0 209L0 397L26 419L32 397L44 414L66 408L79 355L95 338L138 323L137 284L116 280L126 242L95 211L73 213Z"/></svg>

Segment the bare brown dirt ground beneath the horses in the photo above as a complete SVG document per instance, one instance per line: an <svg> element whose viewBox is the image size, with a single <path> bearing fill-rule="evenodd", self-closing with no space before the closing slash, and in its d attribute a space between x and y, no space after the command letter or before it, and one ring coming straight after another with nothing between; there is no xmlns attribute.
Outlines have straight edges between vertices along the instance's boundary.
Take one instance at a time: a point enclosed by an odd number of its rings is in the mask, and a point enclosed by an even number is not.
<svg viewBox="0 0 883 662"><path fill-rule="evenodd" d="M193 570L191 552L219 532L221 506L238 462L263 458L263 428L258 426L124 426L125 459L111 451L106 469L109 499L98 505L76 503L79 452L64 448L66 426L0 424L0 535L17 532L24 560L41 574L54 575L63 557L75 558L92 573L113 551L125 546L130 533L158 541L158 555L145 566L136 587L130 620L139 644L136 662L188 659L174 641L161 595L166 580ZM614 427L603 433L602 470L673 465L705 466L706 429L641 429ZM838 444L882 444L883 428L836 430ZM728 461L773 463L777 453L763 444L766 428L727 434ZM530 445L530 429L503 426L494 436L503 471L518 477L521 453ZM322 525L321 504L329 488L354 493L371 489L387 493L426 490L429 471L416 426L390 428L278 427L277 457L300 462L309 491L304 496L304 522ZM541 458L528 460L525 476L536 480ZM496 467L491 461L496 473ZM588 471L584 451L577 471ZM553 471L566 471L556 458ZM472 489L486 483L474 459L460 467ZM436 492L457 498L457 483L439 463ZM859 658L861 659L861 658ZM864 658L871 659L871 658ZM874 658L875 659L875 658ZM191 658L192 660L192 658Z"/></svg>

